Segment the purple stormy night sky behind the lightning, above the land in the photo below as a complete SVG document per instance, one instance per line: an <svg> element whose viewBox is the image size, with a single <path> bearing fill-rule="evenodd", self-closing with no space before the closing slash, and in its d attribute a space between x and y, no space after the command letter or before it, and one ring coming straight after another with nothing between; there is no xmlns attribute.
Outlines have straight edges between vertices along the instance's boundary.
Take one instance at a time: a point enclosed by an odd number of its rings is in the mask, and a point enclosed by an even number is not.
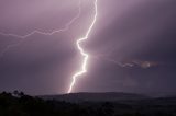
<svg viewBox="0 0 176 116"><path fill-rule="evenodd" d="M78 5L79 0L0 0L0 32L61 30ZM0 91L66 93L82 61L76 40L92 18L94 0L81 0L80 16L65 32L25 40L0 34ZM82 46L90 55L88 72L73 92L176 94L176 0L98 0L98 19Z"/></svg>

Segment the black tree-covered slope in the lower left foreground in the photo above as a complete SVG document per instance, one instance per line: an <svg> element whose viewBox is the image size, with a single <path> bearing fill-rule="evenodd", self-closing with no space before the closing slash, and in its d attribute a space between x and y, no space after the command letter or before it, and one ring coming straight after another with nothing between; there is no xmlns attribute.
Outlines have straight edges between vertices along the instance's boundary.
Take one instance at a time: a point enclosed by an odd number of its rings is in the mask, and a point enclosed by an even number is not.
<svg viewBox="0 0 176 116"><path fill-rule="evenodd" d="M91 107L80 104L44 101L23 92L0 93L0 116L111 116L108 103Z"/></svg>

